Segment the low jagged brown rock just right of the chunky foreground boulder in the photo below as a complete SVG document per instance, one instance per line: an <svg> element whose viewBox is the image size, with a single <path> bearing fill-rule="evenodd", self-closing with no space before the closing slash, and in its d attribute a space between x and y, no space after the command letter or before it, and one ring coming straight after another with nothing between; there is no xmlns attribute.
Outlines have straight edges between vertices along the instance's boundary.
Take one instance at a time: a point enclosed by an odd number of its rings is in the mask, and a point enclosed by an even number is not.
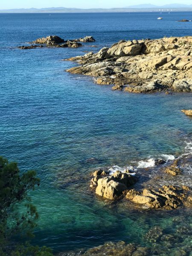
<svg viewBox="0 0 192 256"><path fill-rule="evenodd" d="M126 198L136 204L142 204L147 208L175 209L177 207L192 205L192 195L189 187L163 186L158 191L144 189L139 192L135 189L128 191Z"/></svg>

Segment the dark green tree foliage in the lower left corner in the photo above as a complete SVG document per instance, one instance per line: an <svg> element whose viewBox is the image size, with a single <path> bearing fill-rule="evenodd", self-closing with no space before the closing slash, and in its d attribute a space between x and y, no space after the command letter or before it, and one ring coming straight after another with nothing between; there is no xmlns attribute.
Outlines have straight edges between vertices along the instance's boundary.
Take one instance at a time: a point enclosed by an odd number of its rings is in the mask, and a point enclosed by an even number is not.
<svg viewBox="0 0 192 256"><path fill-rule="evenodd" d="M20 174L17 163L0 157L0 255L1 256L52 256L47 247L18 245L15 235L32 236L38 212L27 193L39 186L35 171ZM21 206L22 205L22 206ZM12 240L12 241L11 241Z"/></svg>

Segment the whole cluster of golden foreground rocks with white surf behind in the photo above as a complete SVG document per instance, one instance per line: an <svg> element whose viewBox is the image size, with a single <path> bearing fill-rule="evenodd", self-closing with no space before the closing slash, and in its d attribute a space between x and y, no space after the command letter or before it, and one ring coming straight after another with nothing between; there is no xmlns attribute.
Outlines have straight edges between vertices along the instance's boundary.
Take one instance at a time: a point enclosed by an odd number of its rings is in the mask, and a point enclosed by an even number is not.
<svg viewBox="0 0 192 256"><path fill-rule="evenodd" d="M148 183L143 182L142 178L136 176L131 170L110 174L108 170L99 169L92 174L90 188L96 195L105 199L128 200L132 203L130 207L167 210L184 206L192 207L191 187L172 185L174 183L172 177L182 175L180 161L177 159L164 166L163 160L157 160L156 166L163 166L160 169L161 177L155 175ZM158 179L164 180L167 185L159 186Z"/></svg>

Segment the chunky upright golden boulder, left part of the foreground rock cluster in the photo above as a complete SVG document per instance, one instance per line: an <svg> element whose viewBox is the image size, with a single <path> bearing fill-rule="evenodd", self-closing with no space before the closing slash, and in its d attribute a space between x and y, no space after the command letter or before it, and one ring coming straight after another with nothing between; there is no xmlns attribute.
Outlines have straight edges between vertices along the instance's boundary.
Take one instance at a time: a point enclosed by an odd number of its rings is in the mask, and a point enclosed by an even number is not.
<svg viewBox="0 0 192 256"><path fill-rule="evenodd" d="M128 187L137 181L133 175L119 171L113 175L100 171L95 172L93 176L90 187L96 186L96 194L108 199L119 198Z"/></svg>

